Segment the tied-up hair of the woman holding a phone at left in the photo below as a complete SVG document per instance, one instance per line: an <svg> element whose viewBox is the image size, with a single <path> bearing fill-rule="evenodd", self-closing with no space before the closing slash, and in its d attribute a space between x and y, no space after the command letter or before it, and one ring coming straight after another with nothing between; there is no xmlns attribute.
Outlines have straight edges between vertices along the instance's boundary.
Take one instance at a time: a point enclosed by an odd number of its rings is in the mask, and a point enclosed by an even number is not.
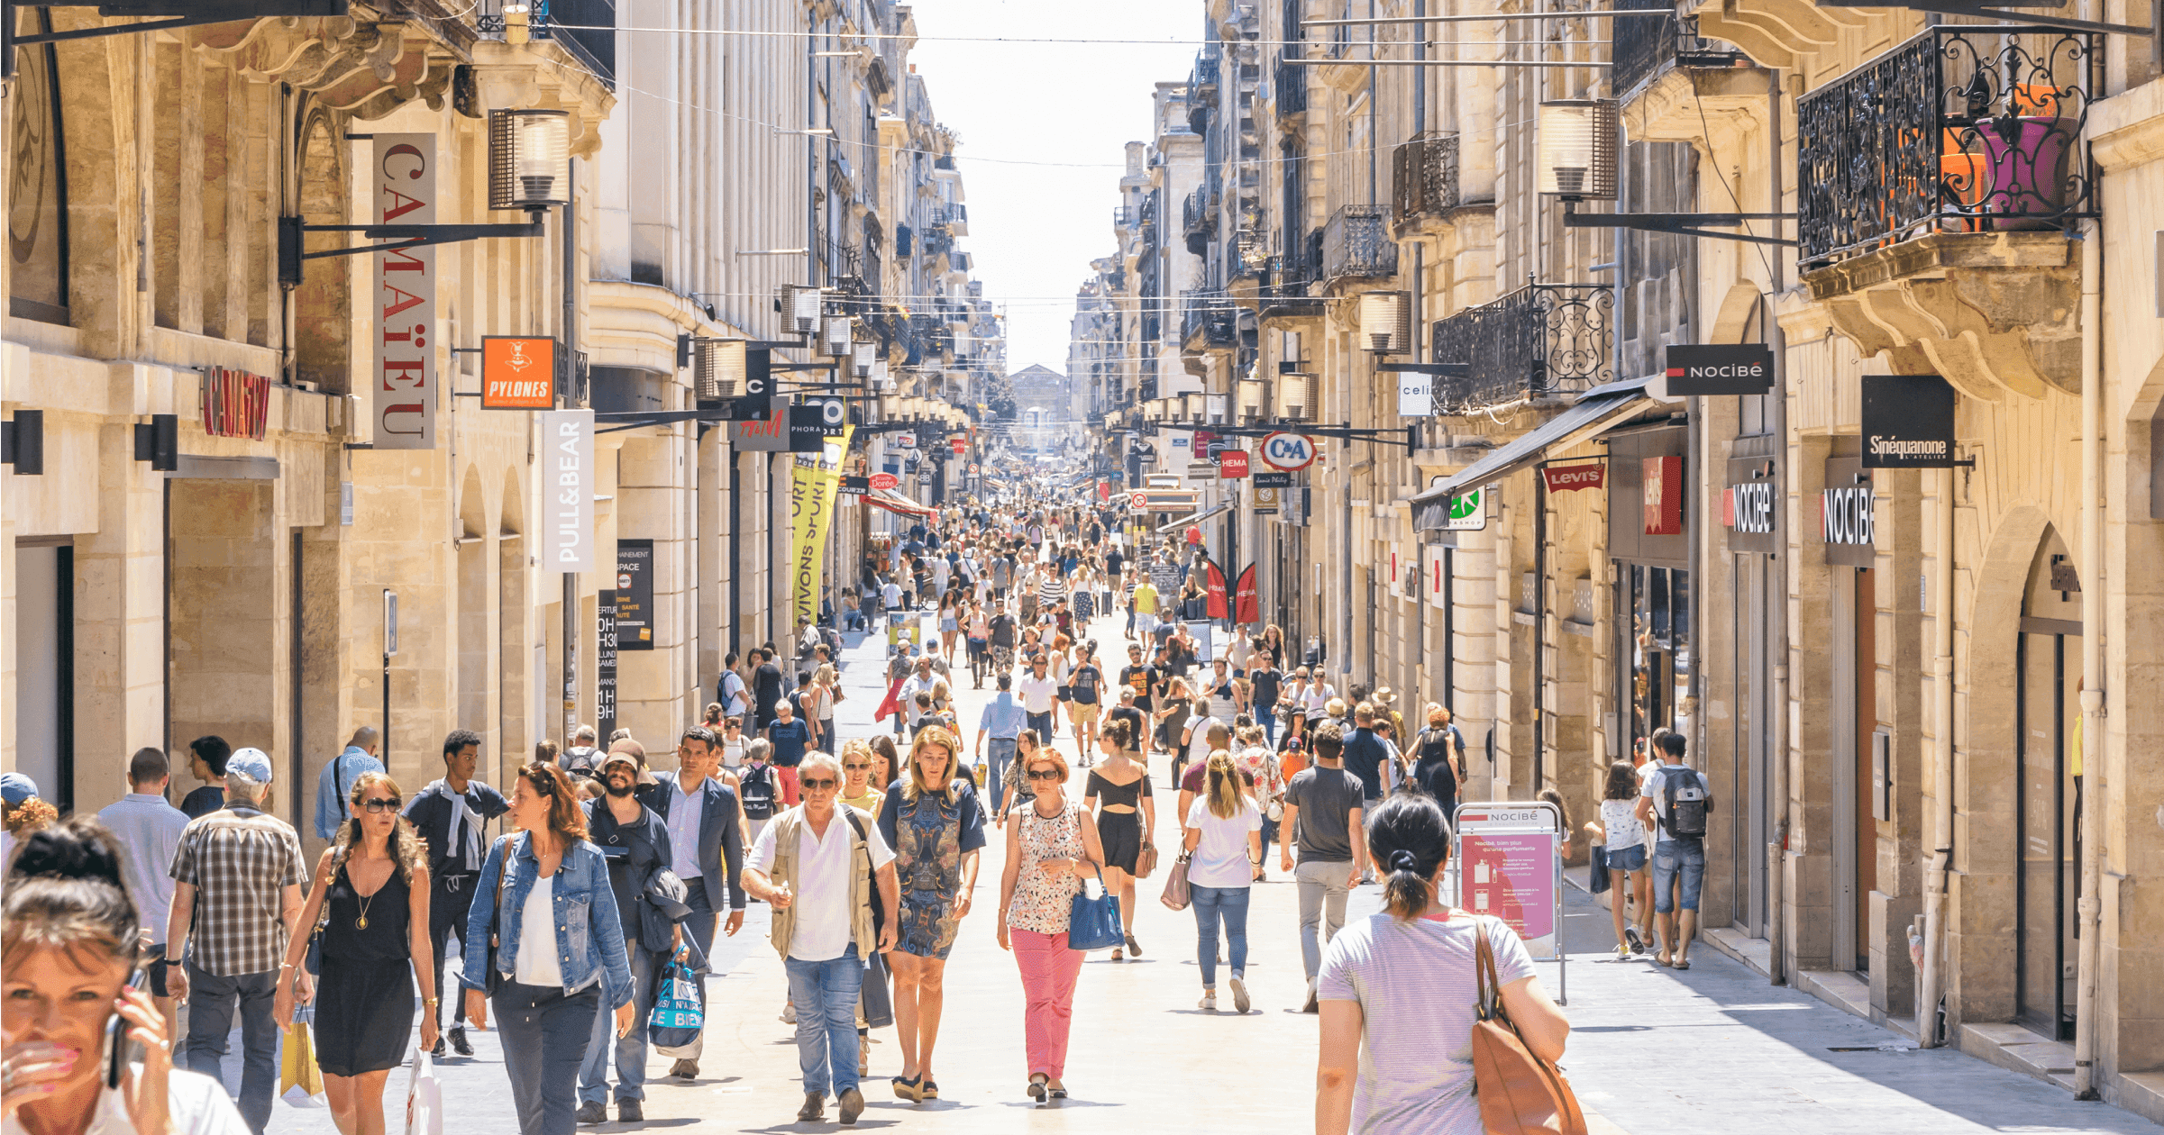
<svg viewBox="0 0 2164 1135"><path fill-rule="evenodd" d="M95 958L132 971L143 951L141 925L121 878L121 843L95 817L74 815L30 832L6 867L0 969L15 969L37 949L61 949L84 971Z"/></svg>

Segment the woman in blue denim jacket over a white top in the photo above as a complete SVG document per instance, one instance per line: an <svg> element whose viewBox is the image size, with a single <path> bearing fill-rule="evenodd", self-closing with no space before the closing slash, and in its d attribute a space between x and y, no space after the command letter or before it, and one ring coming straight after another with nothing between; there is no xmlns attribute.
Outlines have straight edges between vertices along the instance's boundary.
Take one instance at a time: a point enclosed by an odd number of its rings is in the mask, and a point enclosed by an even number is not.
<svg viewBox="0 0 2164 1135"><path fill-rule="evenodd" d="M489 847L461 936L465 1016L487 1027L480 982L500 979L489 1001L502 1033L519 1133L571 1135L578 1068L586 1059L593 1014L602 1005L615 1007L617 1036L638 1027L623 919L608 886L608 863L586 841L586 813L560 767L519 767L506 819L522 830ZM528 925L537 932L554 925L556 934L526 938ZM524 949L528 943L541 949ZM487 973L491 964L493 975Z"/></svg>

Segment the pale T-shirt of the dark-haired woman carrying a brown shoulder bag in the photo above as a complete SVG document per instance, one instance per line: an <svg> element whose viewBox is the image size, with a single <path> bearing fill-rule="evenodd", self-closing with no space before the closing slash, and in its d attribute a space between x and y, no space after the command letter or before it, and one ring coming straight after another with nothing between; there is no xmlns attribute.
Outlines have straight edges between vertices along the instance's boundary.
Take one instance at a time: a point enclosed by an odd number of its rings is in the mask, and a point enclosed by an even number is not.
<svg viewBox="0 0 2164 1135"><path fill-rule="evenodd" d="M1495 979L1532 977L1532 956L1502 919L1485 917ZM1482 1135L1474 1100L1474 919L1378 912L1331 938L1316 979L1322 1001L1359 1001L1359 1083L1352 1131L1361 1135Z"/></svg>

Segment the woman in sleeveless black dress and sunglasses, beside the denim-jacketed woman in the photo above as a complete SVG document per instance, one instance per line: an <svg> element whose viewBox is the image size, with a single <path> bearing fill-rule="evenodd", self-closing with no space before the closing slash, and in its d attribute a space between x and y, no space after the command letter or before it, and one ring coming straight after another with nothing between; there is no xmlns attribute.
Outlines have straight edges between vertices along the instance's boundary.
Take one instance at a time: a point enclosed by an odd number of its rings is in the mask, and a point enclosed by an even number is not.
<svg viewBox="0 0 2164 1135"><path fill-rule="evenodd" d="M435 1049L435 964L428 949L428 858L398 815L398 783L381 772L353 780L353 819L316 863L301 925L322 938L314 982L316 1064L340 1135L383 1135L383 1081L405 1064L413 1033L413 975L426 1012L420 1046ZM292 1025L294 986L307 936L286 943L275 1014ZM301 1001L309 999L301 977Z"/></svg>

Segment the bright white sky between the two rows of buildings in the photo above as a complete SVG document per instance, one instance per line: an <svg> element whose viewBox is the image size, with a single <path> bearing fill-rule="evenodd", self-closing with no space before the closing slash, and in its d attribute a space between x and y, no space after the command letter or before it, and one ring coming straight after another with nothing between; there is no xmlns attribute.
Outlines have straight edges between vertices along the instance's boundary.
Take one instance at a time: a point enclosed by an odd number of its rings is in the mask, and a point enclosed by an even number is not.
<svg viewBox="0 0 2164 1135"><path fill-rule="evenodd" d="M1186 80L1203 6L1179 0L915 0L909 52L933 112L961 134L972 279L1008 313L1008 374L1067 370L1073 294L1112 253L1130 141L1149 138L1156 82ZM1147 43L956 43L937 37ZM993 160L998 158L998 160Z"/></svg>

